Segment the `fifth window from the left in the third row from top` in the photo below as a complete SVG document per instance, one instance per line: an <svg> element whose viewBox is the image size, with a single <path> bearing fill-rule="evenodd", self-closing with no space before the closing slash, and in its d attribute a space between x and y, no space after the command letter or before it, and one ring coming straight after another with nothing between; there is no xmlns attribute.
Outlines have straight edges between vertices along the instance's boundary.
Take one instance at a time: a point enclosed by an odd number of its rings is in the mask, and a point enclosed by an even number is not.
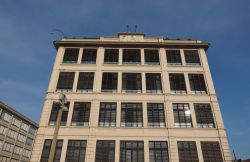
<svg viewBox="0 0 250 162"><path fill-rule="evenodd" d="M162 103L148 103L148 126L165 127L164 105Z"/></svg>

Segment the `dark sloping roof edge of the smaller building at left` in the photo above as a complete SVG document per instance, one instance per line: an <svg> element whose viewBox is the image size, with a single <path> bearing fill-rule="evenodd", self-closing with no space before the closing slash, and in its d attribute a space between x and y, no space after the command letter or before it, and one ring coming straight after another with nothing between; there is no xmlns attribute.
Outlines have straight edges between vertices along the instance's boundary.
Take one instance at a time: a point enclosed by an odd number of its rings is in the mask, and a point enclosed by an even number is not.
<svg viewBox="0 0 250 162"><path fill-rule="evenodd" d="M16 115L17 117L21 118L22 120L26 121L27 123L31 124L32 126L38 128L38 124L33 120L29 119L28 117L24 116L23 114L19 113L15 109L11 108L10 106L6 105L5 103L0 101L0 108Z"/></svg>

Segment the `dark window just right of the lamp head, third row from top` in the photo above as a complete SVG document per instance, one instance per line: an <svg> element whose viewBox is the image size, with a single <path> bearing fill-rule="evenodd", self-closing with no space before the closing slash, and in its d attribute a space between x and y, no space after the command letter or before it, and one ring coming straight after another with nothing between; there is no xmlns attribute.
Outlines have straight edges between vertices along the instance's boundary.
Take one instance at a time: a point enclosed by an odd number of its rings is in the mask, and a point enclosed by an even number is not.
<svg viewBox="0 0 250 162"><path fill-rule="evenodd" d="M90 102L75 102L74 111L72 116L72 125L89 125L89 116L90 116Z"/></svg>

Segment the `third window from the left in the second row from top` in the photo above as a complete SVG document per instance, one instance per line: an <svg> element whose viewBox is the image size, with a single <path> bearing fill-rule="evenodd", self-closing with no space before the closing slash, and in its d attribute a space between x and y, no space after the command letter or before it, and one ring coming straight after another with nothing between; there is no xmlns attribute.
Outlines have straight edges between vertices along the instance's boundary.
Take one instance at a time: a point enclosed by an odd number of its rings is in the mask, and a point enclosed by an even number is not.
<svg viewBox="0 0 250 162"><path fill-rule="evenodd" d="M117 92L118 73L102 74L102 92Z"/></svg>

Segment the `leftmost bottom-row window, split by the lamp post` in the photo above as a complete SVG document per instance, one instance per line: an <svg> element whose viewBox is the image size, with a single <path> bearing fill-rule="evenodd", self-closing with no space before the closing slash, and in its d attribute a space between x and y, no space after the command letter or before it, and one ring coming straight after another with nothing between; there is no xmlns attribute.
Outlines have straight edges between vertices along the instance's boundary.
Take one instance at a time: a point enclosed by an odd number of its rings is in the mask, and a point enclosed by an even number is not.
<svg viewBox="0 0 250 162"><path fill-rule="evenodd" d="M40 162L48 162L52 140L46 139L43 145L43 152ZM56 151L53 162L60 162L63 140L57 140Z"/></svg>

